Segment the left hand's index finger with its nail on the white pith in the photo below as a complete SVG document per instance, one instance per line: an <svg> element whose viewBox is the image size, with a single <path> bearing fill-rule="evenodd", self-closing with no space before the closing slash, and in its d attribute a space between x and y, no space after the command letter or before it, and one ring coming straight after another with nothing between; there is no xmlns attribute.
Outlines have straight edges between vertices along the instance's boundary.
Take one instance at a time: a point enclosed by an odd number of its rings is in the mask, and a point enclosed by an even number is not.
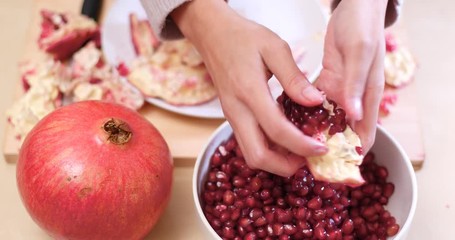
<svg viewBox="0 0 455 240"><path fill-rule="evenodd" d="M239 94L241 101L246 103L262 130L273 142L300 156L321 155L327 152L327 147L323 143L304 135L284 116L272 99L267 84L255 84L242 91Z"/></svg>

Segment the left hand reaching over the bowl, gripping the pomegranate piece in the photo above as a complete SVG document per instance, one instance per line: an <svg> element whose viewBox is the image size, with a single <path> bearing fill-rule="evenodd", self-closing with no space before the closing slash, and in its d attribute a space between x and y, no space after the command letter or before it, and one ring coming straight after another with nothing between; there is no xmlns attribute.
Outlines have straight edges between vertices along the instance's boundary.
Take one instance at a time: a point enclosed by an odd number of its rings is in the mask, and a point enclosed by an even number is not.
<svg viewBox="0 0 455 240"><path fill-rule="evenodd" d="M286 119L268 89L273 74L294 101L310 106L323 100L285 41L220 0L190 1L172 17L204 59L250 167L290 176L305 163L301 156L327 151Z"/></svg>

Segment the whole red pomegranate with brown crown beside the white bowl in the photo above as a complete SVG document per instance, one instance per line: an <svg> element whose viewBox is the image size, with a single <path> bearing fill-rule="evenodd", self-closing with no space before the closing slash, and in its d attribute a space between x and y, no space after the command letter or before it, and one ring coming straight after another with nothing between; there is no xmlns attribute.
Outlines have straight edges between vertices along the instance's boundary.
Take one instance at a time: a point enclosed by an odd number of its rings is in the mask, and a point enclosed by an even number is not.
<svg viewBox="0 0 455 240"><path fill-rule="evenodd" d="M98 101L50 113L28 134L17 184L32 218L57 239L141 239L169 202L173 162L156 128Z"/></svg>

